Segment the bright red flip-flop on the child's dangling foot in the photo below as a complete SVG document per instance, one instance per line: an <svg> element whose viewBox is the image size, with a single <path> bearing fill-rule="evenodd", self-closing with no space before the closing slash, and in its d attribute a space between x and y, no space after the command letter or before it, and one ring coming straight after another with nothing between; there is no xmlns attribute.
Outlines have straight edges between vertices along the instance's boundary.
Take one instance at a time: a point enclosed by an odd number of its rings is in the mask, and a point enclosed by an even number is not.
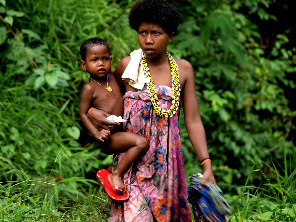
<svg viewBox="0 0 296 222"><path fill-rule="evenodd" d="M129 199L129 193L128 190L126 191L126 194L120 195L115 193L115 190L120 190L122 192L123 188L119 188L117 186L113 186L108 181L108 170L99 170L96 173L96 178L98 178L99 182L103 186L104 191L107 193L108 197L110 197L111 200L114 200L116 202L126 202ZM125 186L126 187L126 186Z"/></svg>

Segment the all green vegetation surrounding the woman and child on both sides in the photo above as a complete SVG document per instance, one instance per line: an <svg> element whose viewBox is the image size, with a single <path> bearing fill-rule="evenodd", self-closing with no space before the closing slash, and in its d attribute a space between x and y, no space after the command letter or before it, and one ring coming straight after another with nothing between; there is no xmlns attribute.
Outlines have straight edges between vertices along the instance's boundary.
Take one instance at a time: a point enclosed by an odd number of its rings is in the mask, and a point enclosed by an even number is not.
<svg viewBox="0 0 296 222"><path fill-rule="evenodd" d="M79 49L104 38L113 69L137 49L133 2L0 0L0 221L107 221L95 173L112 156L79 120ZM169 52L194 67L231 221L295 221L292 1L169 2L182 18ZM180 133L186 175L201 172L182 119Z"/></svg>

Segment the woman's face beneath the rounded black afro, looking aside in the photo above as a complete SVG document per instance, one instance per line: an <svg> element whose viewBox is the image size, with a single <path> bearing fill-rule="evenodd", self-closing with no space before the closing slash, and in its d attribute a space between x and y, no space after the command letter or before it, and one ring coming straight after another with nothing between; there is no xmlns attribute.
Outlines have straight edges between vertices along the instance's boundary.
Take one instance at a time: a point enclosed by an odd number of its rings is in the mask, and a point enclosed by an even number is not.
<svg viewBox="0 0 296 222"><path fill-rule="evenodd" d="M165 54L168 44L172 41L174 33L169 35L163 28L151 22L142 22L139 26L138 41L147 58L155 58Z"/></svg>

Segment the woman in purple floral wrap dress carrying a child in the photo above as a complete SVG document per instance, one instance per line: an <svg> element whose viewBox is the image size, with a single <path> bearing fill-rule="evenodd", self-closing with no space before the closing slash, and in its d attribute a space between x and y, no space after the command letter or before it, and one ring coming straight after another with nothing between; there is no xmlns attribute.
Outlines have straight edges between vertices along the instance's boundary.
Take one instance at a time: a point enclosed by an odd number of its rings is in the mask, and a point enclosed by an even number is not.
<svg viewBox="0 0 296 222"><path fill-rule="evenodd" d="M114 75L126 89L124 130L146 137L149 150L125 173L130 199L112 202L110 221L192 221L178 129L181 103L189 139L198 159L205 160L202 184L215 183L192 65L167 53L179 21L176 9L162 0L137 2L131 9L129 22L141 49L123 58ZM106 128L103 115L108 114L89 112L98 128ZM123 155L115 156L113 168Z"/></svg>

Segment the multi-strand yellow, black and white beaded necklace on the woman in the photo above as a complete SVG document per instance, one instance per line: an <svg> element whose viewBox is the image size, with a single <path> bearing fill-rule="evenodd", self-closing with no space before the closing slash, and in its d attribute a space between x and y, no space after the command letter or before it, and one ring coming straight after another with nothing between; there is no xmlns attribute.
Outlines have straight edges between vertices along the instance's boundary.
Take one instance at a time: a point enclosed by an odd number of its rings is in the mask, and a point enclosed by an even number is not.
<svg viewBox="0 0 296 222"><path fill-rule="evenodd" d="M157 92L154 87L153 79L151 78L151 74L149 72L148 64L146 62L146 55L143 54L143 69L144 69L144 74L146 78L150 77L150 82L147 83L147 88L149 91L149 96L151 103L153 105L153 108L155 110L155 113L159 115L160 117L173 117L173 115L177 112L179 108L179 98L180 98L180 92L181 92L181 87L180 87L180 80L179 80L179 72L178 72L178 65L174 58L167 52L168 54L168 59L170 61L170 70L172 73L172 90L173 90L173 95L172 95L172 105L170 109L168 110L163 110L160 108L160 104L158 102L158 97L157 97Z"/></svg>

